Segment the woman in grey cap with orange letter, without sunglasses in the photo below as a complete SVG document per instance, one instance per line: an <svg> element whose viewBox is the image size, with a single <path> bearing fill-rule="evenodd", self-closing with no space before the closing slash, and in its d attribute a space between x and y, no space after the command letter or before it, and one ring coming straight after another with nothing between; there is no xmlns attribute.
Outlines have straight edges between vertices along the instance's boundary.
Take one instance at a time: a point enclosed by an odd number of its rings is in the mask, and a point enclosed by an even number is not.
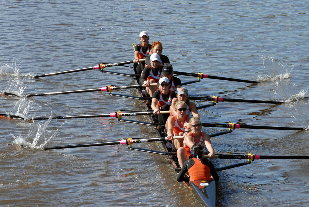
<svg viewBox="0 0 309 207"><path fill-rule="evenodd" d="M194 102L192 101L189 101L188 97L189 97L189 94L188 94L188 89L187 88L179 88L178 89L178 93L176 94L176 97L177 98L174 98L172 100L172 104L171 104L171 108L170 108L170 116L171 115L176 115L177 112L175 110L175 103L177 101L184 101L186 104L187 104L187 111L186 111L186 114L189 116L190 115L190 112L192 112L192 115L193 116L196 116L196 117L200 117L198 115L198 112L197 112L197 109L196 109L196 105Z"/></svg>

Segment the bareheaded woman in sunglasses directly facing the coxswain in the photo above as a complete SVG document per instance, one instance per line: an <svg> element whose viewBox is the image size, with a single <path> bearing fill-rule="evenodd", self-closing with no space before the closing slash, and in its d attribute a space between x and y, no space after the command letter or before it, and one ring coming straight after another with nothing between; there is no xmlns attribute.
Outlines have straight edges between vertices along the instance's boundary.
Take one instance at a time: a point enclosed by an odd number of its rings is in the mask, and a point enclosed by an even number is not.
<svg viewBox="0 0 309 207"><path fill-rule="evenodd" d="M177 157L180 167L188 160L191 155L191 147L195 143L200 143L202 147L206 147L208 150L209 158L214 158L214 148L211 144L209 134L202 132L201 119L199 117L192 117L190 119L191 132L184 137L184 146L177 149Z"/></svg>

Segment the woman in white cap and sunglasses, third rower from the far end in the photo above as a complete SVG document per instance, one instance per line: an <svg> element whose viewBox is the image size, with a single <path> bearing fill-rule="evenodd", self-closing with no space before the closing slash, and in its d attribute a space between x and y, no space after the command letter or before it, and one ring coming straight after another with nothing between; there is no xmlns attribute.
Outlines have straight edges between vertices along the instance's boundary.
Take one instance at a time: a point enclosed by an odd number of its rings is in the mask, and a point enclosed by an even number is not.
<svg viewBox="0 0 309 207"><path fill-rule="evenodd" d="M152 97L157 90L156 85L150 86L151 83L157 83L161 75L161 66L159 65L160 56L157 53L150 55L150 66L147 66L142 71L139 82L146 87L146 95ZM168 80L168 79L167 79Z"/></svg>

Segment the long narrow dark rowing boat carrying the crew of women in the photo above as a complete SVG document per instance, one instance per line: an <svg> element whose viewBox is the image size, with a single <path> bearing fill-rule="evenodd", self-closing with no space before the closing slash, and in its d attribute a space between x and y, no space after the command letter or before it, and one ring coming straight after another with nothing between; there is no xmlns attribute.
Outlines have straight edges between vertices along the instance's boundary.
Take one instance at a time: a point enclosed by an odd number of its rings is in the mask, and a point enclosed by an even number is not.
<svg viewBox="0 0 309 207"><path fill-rule="evenodd" d="M133 71L134 72L134 71ZM138 77L134 76L134 81L136 84L138 83ZM139 88L138 92L141 97L146 97L145 90L143 88ZM146 108L146 110L151 110L151 101L147 99L142 99L143 104ZM152 123L158 123L157 116L155 114L150 115L150 119ZM156 134L160 137L165 137L164 134L164 128L162 125L153 125L153 128L156 132ZM228 132L223 132L228 133ZM220 133L222 134L222 133ZM161 144L163 146L163 149L165 152L171 152L171 144L167 142L166 140L161 141ZM132 149L132 147L131 147ZM176 156L176 153L171 153L168 155L168 158L171 162L171 164L174 166L174 170L180 171L180 166L178 164L178 159ZM195 180L193 182L190 182L188 178L184 180L185 185L188 187L188 189L196 195L196 197L203 203L205 206L215 206L216 201L216 183L214 180Z"/></svg>

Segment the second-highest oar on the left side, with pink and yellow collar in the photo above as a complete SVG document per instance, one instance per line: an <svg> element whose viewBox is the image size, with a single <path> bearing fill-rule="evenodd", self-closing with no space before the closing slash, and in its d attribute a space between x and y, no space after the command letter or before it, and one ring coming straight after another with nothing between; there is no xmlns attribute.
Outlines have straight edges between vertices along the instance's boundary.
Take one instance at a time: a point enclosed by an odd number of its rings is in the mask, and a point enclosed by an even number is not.
<svg viewBox="0 0 309 207"><path fill-rule="evenodd" d="M157 85L156 83L151 83L150 85ZM84 90L75 90L75 91L60 91L60 92L50 92L50 93L34 93L34 94L25 94L23 96L25 97L34 97L34 96L50 96L50 95L59 95L59 94L68 94L68 93L86 93L86 92L94 92L94 91L108 91L111 92L112 90L118 90L118 89L128 89L128 88L141 88L145 87L144 84L138 84L138 85L126 85L126 86L105 86L101 88L92 88L92 89L84 89ZM15 97L23 97L18 96L17 94L13 93L6 93L7 96L15 96Z"/></svg>

